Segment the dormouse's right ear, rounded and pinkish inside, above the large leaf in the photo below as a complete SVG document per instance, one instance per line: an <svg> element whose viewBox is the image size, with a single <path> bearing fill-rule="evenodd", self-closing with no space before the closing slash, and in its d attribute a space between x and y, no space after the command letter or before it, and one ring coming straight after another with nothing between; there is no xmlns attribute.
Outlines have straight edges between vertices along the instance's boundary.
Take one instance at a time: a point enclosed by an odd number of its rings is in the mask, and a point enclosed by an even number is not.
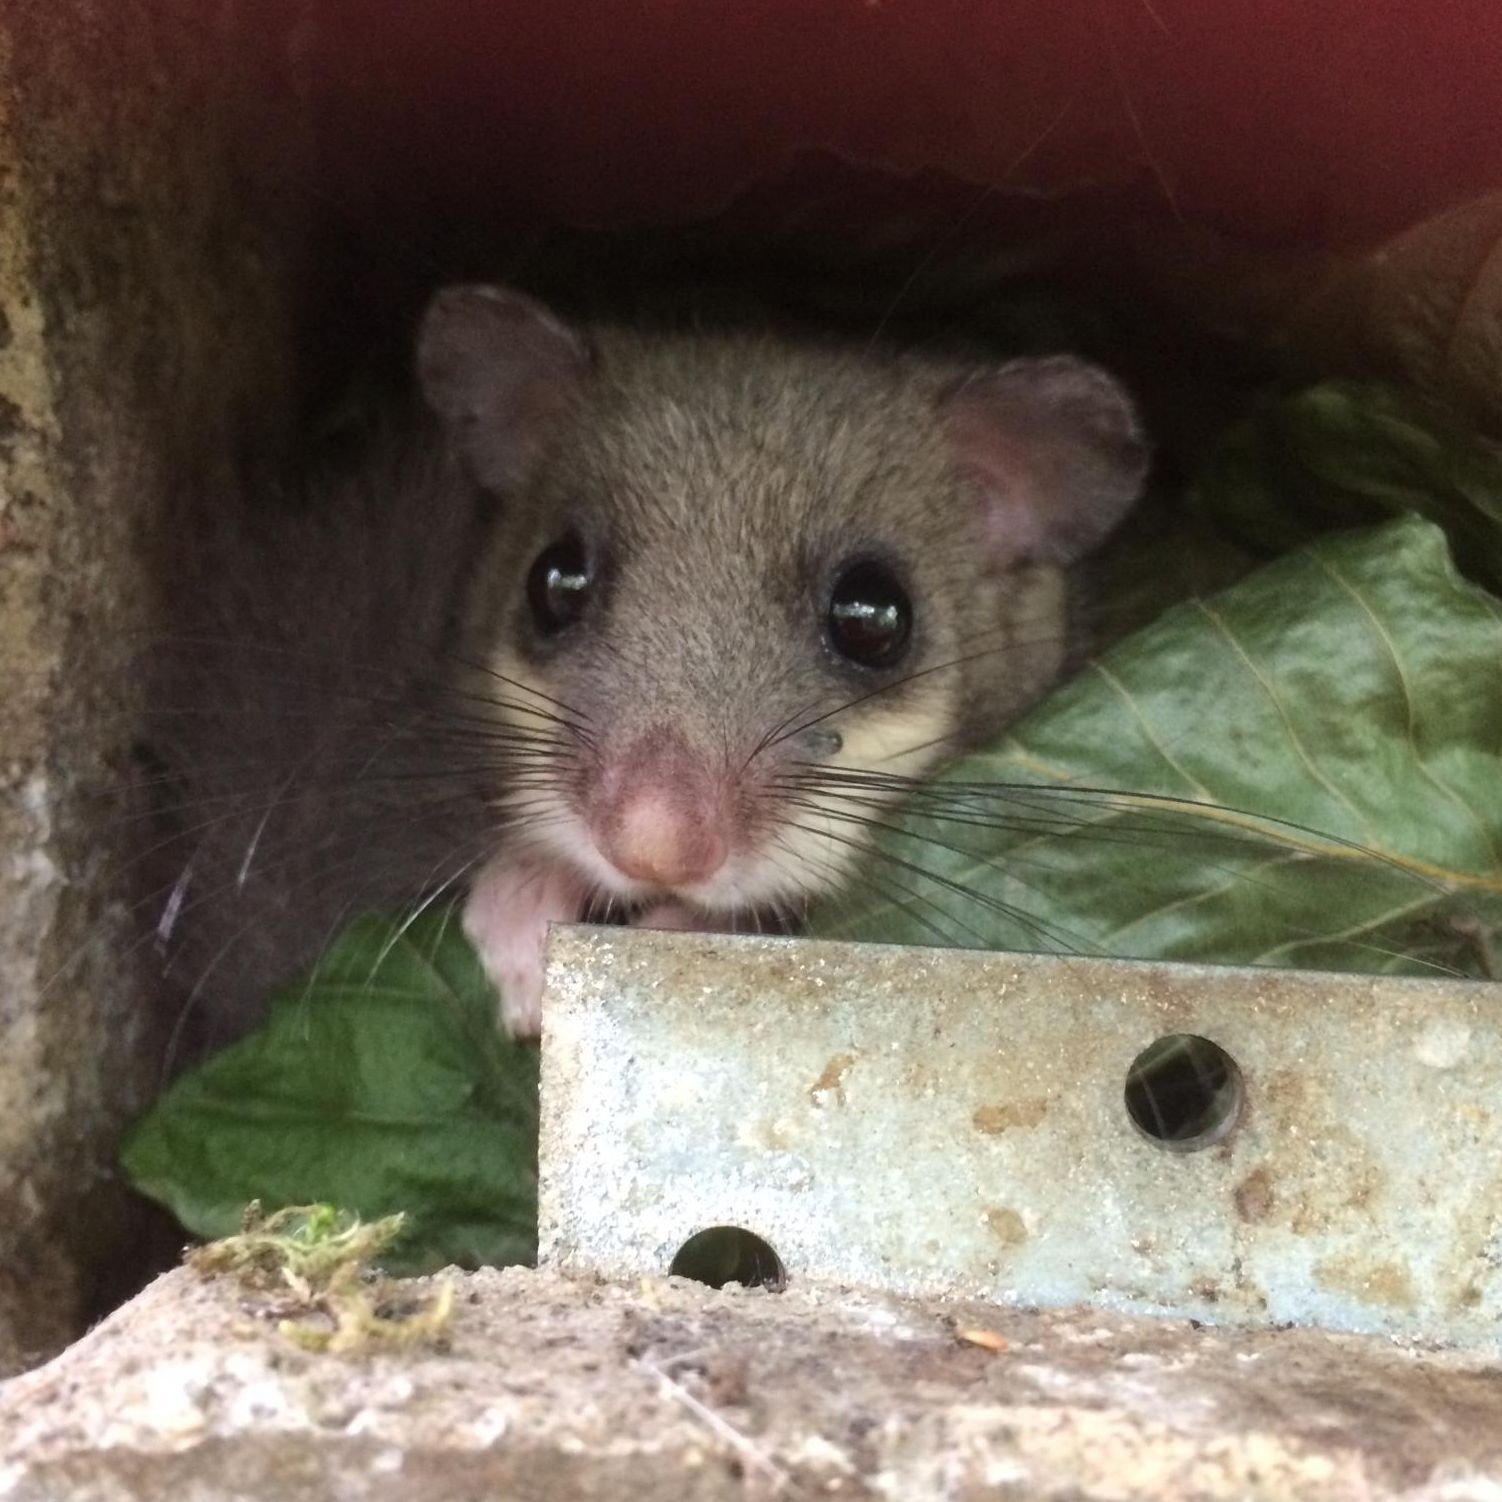
<svg viewBox="0 0 1502 1502"><path fill-rule="evenodd" d="M952 386L942 409L997 569L1074 562L1142 494L1148 442L1137 412L1095 365L1012 360Z"/></svg>

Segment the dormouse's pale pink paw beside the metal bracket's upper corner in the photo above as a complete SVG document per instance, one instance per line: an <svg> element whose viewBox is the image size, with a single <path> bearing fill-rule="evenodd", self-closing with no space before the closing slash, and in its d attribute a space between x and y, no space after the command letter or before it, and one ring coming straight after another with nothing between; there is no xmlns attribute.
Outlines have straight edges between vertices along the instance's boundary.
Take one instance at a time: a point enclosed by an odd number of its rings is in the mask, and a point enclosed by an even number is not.
<svg viewBox="0 0 1502 1502"><path fill-rule="evenodd" d="M500 1026L512 1038L542 1032L542 942L548 924L584 912L584 885L568 870L497 856L470 886L464 933L500 991Z"/></svg>

